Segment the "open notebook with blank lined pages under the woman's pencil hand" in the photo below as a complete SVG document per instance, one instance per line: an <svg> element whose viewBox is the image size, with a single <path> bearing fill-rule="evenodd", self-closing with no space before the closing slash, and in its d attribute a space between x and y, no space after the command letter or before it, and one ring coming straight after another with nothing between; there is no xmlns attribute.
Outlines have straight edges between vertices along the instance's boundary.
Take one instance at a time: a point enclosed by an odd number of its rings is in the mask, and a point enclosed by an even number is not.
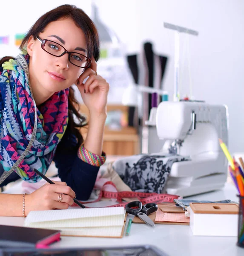
<svg viewBox="0 0 244 256"><path fill-rule="evenodd" d="M32 211L25 219L26 227L61 230L61 236L122 237L124 224L123 207Z"/></svg>

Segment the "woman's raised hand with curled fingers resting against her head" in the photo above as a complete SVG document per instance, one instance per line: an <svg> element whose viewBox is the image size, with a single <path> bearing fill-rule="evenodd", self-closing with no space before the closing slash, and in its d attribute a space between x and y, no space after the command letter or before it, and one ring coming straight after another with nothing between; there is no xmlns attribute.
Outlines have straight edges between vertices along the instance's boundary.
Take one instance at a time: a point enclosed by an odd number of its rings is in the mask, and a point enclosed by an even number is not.
<svg viewBox="0 0 244 256"><path fill-rule="evenodd" d="M89 78L83 84L84 79ZM82 99L90 113L106 113L109 84L97 74L97 63L92 57L91 66L81 74L76 82Z"/></svg>

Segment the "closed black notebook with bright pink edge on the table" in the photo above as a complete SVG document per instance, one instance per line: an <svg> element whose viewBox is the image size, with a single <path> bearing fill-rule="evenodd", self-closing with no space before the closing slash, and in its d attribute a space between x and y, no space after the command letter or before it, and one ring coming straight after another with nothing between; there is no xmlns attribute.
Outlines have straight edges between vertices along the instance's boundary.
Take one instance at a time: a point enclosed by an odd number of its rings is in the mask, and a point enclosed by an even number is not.
<svg viewBox="0 0 244 256"><path fill-rule="evenodd" d="M0 225L0 247L44 248L60 240L60 230Z"/></svg>

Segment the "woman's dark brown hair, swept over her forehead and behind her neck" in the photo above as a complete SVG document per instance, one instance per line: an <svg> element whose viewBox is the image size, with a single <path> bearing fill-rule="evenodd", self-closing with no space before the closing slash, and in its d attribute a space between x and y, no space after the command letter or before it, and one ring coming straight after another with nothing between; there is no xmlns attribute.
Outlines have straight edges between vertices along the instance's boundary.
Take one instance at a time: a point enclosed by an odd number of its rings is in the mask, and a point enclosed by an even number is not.
<svg viewBox="0 0 244 256"><path fill-rule="evenodd" d="M100 52L99 52L99 38L98 38L98 31L92 22L92 20L89 18L86 13L80 9L77 8L74 5L64 4L62 6L58 6L55 9L52 9L49 12L46 12L44 15L42 15L35 23L34 25L29 29L26 36L23 38L23 41L20 45L20 49L24 50L26 48L26 44L30 38L30 36L33 36L34 38L39 35L39 33L43 32L43 30L46 28L46 26L57 20L65 19L65 18L71 18L74 20L75 24L82 29L85 38L86 38L86 44L87 44L87 52L88 52L88 58L91 58L92 56L95 58L95 61L98 61ZM8 61L10 58L13 58L11 56L3 57L0 60L0 67L5 61ZM76 117L76 121L74 120L74 116ZM80 134L80 128L84 126L84 123L86 119L84 116L82 116L79 112L79 103L75 99L75 91L72 87L69 88L69 122L68 127L72 134L75 134L75 136L78 139L78 146L83 143L83 137Z"/></svg>

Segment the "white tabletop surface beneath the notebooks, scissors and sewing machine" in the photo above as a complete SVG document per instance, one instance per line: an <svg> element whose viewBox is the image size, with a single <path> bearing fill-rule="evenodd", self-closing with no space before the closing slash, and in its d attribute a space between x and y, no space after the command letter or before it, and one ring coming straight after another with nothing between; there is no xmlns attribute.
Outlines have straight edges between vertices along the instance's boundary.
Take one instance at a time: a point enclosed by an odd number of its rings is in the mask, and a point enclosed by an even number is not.
<svg viewBox="0 0 244 256"><path fill-rule="evenodd" d="M16 192L14 189L7 192ZM227 183L224 189L189 197L196 200L219 201L230 199L238 202L235 187ZM107 204L107 202L101 202ZM101 205L99 205L101 206ZM0 224L22 226L24 218L0 217ZM237 237L193 236L189 226L132 224L130 235L122 239L69 237L62 236L61 241L52 247L123 247L132 245L154 245L169 256L243 256L244 248L236 245Z"/></svg>

